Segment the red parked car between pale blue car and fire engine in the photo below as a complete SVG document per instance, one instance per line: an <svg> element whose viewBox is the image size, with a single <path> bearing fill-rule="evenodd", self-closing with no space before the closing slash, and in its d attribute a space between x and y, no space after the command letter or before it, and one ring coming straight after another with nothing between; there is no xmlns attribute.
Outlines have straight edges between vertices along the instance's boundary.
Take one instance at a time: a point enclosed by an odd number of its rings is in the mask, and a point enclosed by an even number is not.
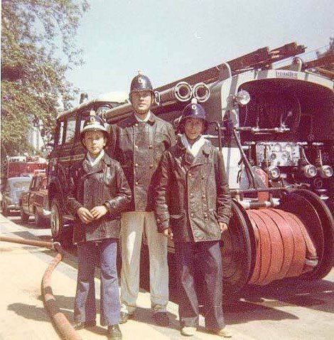
<svg viewBox="0 0 334 340"><path fill-rule="evenodd" d="M38 226L50 225L50 210L48 208L48 179L45 171L33 175L31 185L20 198L20 216L22 222L28 222L29 216L35 217Z"/></svg>

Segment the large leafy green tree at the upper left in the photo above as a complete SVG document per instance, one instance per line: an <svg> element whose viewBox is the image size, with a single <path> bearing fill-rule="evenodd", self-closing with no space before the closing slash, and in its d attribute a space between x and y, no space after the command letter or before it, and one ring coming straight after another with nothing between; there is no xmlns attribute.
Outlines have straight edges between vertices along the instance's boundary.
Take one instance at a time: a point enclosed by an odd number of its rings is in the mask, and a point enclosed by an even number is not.
<svg viewBox="0 0 334 340"><path fill-rule="evenodd" d="M26 134L42 122L45 139L60 102L70 107L75 89L65 72L80 65L74 37L87 0L9 0L1 11L1 149L26 152Z"/></svg>

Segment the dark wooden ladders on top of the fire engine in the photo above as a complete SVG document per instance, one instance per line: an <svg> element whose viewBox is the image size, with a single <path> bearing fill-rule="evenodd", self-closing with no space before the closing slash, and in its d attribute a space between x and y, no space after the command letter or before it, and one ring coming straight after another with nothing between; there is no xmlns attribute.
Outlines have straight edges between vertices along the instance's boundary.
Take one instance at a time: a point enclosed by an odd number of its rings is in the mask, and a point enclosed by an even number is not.
<svg viewBox="0 0 334 340"><path fill-rule="evenodd" d="M168 88L174 87L181 81L189 83L190 85L194 85L200 82L209 84L217 80L227 78L225 75L229 73L230 75L237 75L239 73L246 72L247 70L269 70L272 68L273 63L304 53L305 50L305 46L297 45L297 43L294 42L288 43L284 46L280 46L279 48L274 48L273 50L269 50L268 47L259 48L256 51L227 61L227 63L216 65L212 68L208 68L207 70L203 70L193 75L189 75L188 77L176 80L173 83L158 87L156 90L158 92L161 92ZM330 55L325 55L323 58L318 58L316 60L311 60L307 63L303 63L302 70L315 68L318 73L321 73L328 78L334 78L333 72L321 68L321 66L328 65L329 63L334 63L333 53ZM284 66L283 68L286 68L286 66Z"/></svg>

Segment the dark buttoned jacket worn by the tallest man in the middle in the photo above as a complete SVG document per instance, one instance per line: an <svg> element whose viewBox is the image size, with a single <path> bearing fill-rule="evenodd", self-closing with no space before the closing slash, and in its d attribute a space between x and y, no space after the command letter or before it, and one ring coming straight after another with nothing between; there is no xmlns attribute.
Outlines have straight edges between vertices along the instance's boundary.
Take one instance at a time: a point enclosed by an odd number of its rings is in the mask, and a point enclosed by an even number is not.
<svg viewBox="0 0 334 340"><path fill-rule="evenodd" d="M128 211L153 211L156 169L163 152L176 143L173 126L151 112L148 122L134 114L110 129L109 154L119 161L132 191Z"/></svg>

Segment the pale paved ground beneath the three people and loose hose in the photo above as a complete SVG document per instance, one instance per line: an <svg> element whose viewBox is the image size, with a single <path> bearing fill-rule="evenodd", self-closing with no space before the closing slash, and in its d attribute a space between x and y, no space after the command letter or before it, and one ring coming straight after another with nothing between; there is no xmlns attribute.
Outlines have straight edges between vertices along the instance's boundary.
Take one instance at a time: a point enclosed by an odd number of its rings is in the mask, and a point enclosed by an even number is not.
<svg viewBox="0 0 334 340"><path fill-rule="evenodd" d="M36 238L29 228L0 215L1 235ZM45 237L47 238L47 237ZM15 243L0 243L0 339L60 339L43 308L41 279L55 252ZM53 294L61 311L72 322L75 255L68 254L52 275ZM99 280L96 279L97 294ZM174 297L171 297L175 301ZM177 305L168 304L171 326L151 321L149 293L139 294L136 318L122 325L124 339L185 339L178 331ZM333 339L334 269L317 282L276 282L267 287L249 287L225 301L225 317L232 339ZM203 326L203 319L200 320ZM82 339L107 339L105 329L95 326L79 331ZM198 331L191 339L218 339Z"/></svg>

